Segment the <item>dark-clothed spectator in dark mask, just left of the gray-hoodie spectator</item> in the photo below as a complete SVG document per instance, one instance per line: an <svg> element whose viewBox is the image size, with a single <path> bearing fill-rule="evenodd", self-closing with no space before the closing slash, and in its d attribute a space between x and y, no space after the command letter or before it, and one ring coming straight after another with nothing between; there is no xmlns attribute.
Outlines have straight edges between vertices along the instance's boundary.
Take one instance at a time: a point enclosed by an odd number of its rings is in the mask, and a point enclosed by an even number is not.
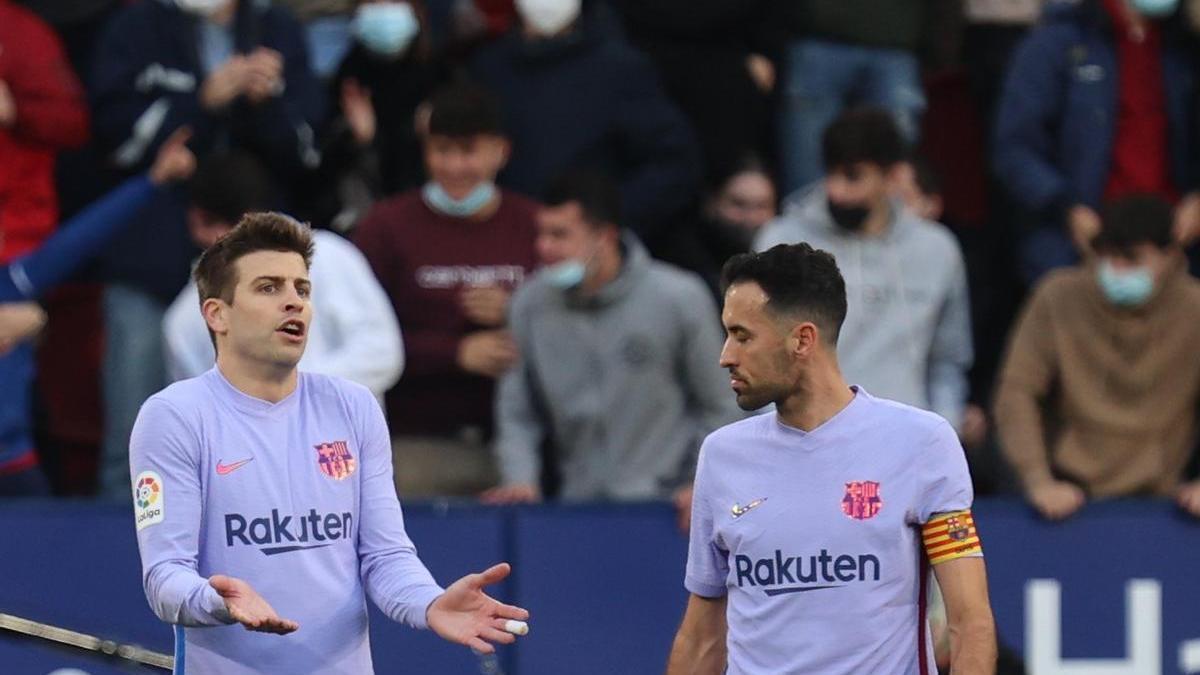
<svg viewBox="0 0 1200 675"><path fill-rule="evenodd" d="M700 274L720 303L725 261L750 250L755 233L778 214L778 204L766 165L743 155L709 187L696 219L698 227L680 233L661 258Z"/></svg>

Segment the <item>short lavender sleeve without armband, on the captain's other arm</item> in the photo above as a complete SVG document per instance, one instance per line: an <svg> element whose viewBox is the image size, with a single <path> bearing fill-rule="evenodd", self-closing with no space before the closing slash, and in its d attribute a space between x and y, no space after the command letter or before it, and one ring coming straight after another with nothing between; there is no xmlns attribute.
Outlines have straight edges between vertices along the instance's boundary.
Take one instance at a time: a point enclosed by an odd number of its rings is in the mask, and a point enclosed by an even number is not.
<svg viewBox="0 0 1200 675"><path fill-rule="evenodd" d="M712 494L709 441L700 449L696 482L691 497L691 528L688 534L688 571L684 587L704 598L726 595L725 580L730 574L728 551L716 542L716 509Z"/></svg>

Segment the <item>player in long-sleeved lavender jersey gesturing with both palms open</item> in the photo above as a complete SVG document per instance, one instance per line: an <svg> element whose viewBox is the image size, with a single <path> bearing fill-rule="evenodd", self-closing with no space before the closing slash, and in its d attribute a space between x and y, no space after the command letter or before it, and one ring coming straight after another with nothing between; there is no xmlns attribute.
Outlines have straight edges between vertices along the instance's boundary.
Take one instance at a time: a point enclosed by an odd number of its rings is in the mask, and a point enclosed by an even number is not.
<svg viewBox="0 0 1200 675"><path fill-rule="evenodd" d="M175 625L175 673L371 673L364 591L480 652L528 616L482 591L505 563L434 583L404 532L374 396L296 371L311 259L311 232L269 213L205 251L196 281L216 365L155 394L133 429L143 581Z"/></svg>

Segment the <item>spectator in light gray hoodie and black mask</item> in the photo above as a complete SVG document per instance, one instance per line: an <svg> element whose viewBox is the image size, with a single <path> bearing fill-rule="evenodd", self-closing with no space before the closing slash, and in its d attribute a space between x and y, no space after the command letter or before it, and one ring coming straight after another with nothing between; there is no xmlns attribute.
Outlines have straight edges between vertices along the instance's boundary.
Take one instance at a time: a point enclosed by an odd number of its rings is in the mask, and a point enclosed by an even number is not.
<svg viewBox="0 0 1200 675"><path fill-rule="evenodd" d="M850 298L838 344L846 377L931 410L961 432L972 345L958 243L892 198L907 165L887 112L842 113L826 130L823 159L824 180L788 197L755 250L808 241L833 253Z"/></svg>

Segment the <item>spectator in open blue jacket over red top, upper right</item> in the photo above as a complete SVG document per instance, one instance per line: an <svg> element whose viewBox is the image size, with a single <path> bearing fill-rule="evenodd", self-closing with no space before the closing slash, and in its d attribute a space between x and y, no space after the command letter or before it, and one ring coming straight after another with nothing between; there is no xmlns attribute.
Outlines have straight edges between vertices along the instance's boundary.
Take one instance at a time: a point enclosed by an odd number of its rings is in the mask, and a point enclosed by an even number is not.
<svg viewBox="0 0 1200 675"><path fill-rule="evenodd" d="M1178 199L1176 237L1200 235L1194 56L1175 7L1052 4L1014 54L994 165L1036 223L1021 241L1026 281L1076 261L1099 231L1094 209L1123 195Z"/></svg>

